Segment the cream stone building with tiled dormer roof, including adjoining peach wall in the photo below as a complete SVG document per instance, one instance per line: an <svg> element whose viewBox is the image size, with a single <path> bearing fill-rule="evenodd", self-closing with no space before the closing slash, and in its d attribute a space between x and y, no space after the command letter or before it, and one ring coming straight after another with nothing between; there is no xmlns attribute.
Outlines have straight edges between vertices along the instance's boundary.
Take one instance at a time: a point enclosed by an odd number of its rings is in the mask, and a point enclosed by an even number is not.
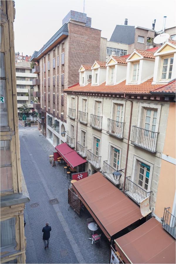
<svg viewBox="0 0 176 264"><path fill-rule="evenodd" d="M166 210L173 220L167 223L171 229L175 225L175 53L175 41L170 40L158 48L111 56L107 63L82 65L79 84L64 90L66 141L87 159L85 170L89 175L102 172L137 204L150 196L153 215L163 221ZM92 79L87 81L87 75ZM113 175L121 169L121 174Z"/></svg>

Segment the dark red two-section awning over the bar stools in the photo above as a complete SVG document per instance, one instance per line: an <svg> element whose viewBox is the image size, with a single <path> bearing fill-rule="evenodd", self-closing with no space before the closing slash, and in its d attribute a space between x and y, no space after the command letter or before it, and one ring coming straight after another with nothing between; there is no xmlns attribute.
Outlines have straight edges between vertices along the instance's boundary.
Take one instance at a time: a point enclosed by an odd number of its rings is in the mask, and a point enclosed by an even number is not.
<svg viewBox="0 0 176 264"><path fill-rule="evenodd" d="M86 162L86 160L83 159L75 150L70 148L67 143L56 146L55 150L57 150L57 152L62 156L66 163L70 165L72 169Z"/></svg>

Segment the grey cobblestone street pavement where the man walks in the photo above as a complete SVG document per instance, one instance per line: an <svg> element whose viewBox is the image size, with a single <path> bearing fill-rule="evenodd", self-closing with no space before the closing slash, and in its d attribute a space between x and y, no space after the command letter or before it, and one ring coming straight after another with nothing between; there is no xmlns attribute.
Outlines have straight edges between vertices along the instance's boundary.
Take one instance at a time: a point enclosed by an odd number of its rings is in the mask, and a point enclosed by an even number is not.
<svg viewBox="0 0 176 264"><path fill-rule="evenodd" d="M49 155L55 151L36 127L19 125L21 166L30 202L26 204L26 263L109 263L109 242L102 235L91 244L86 231L89 212L78 216L68 204L68 186L63 166L51 167ZM58 203L51 205L50 199ZM44 249L42 228L46 221L52 231L49 248Z"/></svg>

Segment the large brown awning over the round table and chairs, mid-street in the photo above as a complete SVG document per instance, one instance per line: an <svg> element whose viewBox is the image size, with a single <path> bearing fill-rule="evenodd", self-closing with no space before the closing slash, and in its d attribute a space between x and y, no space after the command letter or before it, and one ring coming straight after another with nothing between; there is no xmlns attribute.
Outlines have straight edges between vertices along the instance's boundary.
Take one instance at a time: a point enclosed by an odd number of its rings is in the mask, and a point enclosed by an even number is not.
<svg viewBox="0 0 176 264"><path fill-rule="evenodd" d="M72 188L109 241L111 236L143 217L138 205L100 172L74 182Z"/></svg>

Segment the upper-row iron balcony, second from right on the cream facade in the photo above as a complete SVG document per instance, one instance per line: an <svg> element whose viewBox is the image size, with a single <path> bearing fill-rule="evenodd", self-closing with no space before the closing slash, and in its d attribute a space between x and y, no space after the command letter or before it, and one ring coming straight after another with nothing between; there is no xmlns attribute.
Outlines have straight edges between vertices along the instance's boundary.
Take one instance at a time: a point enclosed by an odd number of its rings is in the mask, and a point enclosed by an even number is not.
<svg viewBox="0 0 176 264"><path fill-rule="evenodd" d="M117 138L123 138L124 123L108 118L107 133Z"/></svg>

